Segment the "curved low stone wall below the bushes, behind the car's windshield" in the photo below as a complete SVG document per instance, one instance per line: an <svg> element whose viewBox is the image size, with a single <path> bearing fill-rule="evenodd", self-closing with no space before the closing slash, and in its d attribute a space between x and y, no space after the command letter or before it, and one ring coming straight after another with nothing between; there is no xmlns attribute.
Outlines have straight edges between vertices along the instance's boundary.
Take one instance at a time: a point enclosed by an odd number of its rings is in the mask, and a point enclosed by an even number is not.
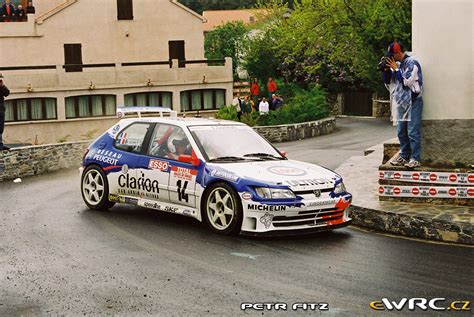
<svg viewBox="0 0 474 317"><path fill-rule="evenodd" d="M331 133L335 129L336 118L334 117L296 124L254 127L255 131L273 143L312 138Z"/></svg>

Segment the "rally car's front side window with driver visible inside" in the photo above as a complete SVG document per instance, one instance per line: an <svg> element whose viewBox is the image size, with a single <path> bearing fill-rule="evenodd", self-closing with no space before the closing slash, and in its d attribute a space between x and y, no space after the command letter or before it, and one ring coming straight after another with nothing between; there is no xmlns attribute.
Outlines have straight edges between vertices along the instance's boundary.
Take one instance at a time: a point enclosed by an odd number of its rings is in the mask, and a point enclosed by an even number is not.
<svg viewBox="0 0 474 317"><path fill-rule="evenodd" d="M191 144L183 129L169 124L156 125L148 155L177 161L180 155L191 153Z"/></svg>

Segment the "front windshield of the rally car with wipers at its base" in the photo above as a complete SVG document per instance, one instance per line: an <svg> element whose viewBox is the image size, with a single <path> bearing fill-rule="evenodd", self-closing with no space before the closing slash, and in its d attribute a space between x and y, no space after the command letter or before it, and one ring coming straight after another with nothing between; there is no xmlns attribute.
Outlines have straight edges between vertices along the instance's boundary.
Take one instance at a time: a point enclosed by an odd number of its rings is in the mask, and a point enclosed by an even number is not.
<svg viewBox="0 0 474 317"><path fill-rule="evenodd" d="M192 126L189 130L209 161L285 159L248 126Z"/></svg>

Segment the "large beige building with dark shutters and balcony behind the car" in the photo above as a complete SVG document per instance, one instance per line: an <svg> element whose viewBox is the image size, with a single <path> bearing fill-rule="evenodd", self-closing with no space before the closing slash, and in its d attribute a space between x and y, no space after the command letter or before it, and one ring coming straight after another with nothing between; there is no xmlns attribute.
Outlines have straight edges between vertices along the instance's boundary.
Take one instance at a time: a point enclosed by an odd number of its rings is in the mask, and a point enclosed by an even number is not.
<svg viewBox="0 0 474 317"><path fill-rule="evenodd" d="M93 138L117 106L209 115L232 100L231 59L204 59L204 19L176 0L34 4L0 23L6 143Z"/></svg>

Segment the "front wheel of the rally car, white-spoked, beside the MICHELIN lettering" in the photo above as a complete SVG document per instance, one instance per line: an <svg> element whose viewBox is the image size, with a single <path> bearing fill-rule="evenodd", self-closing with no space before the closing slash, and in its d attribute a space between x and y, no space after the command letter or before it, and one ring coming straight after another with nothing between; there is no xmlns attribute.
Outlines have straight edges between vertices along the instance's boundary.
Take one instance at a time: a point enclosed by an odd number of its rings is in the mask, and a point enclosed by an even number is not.
<svg viewBox="0 0 474 317"><path fill-rule="evenodd" d="M212 231L235 234L242 227L242 202L230 185L215 183L204 194L201 215Z"/></svg>

